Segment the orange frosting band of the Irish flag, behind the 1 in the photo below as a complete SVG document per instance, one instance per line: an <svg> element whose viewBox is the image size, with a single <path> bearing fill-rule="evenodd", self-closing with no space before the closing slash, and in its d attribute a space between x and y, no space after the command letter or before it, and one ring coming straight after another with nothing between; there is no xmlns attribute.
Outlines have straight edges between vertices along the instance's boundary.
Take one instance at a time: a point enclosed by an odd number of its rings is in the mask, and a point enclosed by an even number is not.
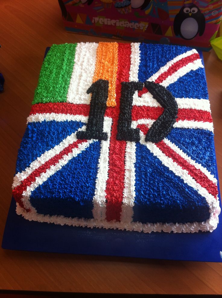
<svg viewBox="0 0 222 298"><path fill-rule="evenodd" d="M118 43L100 42L97 47L97 61L93 82L109 81L107 106L116 106L116 75L118 68Z"/></svg>

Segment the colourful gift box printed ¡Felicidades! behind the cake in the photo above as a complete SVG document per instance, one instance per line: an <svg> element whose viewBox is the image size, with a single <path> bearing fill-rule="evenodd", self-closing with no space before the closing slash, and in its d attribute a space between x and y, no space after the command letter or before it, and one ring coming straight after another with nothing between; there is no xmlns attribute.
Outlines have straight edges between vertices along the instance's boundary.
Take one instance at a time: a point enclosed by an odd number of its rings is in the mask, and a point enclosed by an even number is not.
<svg viewBox="0 0 222 298"><path fill-rule="evenodd" d="M59 0L67 31L137 42L211 48L222 1Z"/></svg>

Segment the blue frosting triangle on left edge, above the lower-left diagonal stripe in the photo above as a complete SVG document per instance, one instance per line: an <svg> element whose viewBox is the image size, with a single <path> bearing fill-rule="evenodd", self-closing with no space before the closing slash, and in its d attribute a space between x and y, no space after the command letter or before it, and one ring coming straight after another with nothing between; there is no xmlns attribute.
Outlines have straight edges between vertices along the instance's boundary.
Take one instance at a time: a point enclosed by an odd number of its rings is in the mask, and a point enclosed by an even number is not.
<svg viewBox="0 0 222 298"><path fill-rule="evenodd" d="M58 145L84 123L77 121L43 121L28 123L18 151L16 173L24 171L45 151Z"/></svg>

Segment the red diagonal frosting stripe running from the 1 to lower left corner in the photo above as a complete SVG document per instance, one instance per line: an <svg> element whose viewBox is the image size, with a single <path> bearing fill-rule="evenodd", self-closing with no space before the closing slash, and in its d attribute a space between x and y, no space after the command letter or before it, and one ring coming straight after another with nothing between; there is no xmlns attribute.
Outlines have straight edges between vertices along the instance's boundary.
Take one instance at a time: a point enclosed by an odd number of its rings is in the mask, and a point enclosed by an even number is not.
<svg viewBox="0 0 222 298"><path fill-rule="evenodd" d="M25 178L22 184L18 185L16 188L13 189L13 197L14 199L24 208L24 205L21 201L22 194L26 190L28 186L30 186L35 180L36 177L39 177L41 173L45 173L50 166L55 165L62 159L63 156L68 155L72 151L73 148L77 148L78 144L87 142L87 140L77 140L76 142L71 143L66 148L64 148L61 152L53 156L43 165L41 165L38 169L34 170L27 178Z"/></svg>

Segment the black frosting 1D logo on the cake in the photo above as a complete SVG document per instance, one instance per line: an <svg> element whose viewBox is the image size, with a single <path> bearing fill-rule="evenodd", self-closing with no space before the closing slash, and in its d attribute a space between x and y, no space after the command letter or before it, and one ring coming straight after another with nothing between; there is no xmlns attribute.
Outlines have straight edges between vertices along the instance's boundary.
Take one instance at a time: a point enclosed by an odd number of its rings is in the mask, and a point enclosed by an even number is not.
<svg viewBox="0 0 222 298"><path fill-rule="evenodd" d="M148 130L146 142L160 142L173 128L176 122L178 106L173 95L165 87L154 82L122 82L120 97L120 112L117 126L116 139L121 141L138 142L140 134L138 128L132 128L132 103L135 91L146 87L158 103L164 108L163 114L152 124ZM106 101L108 98L108 80L97 80L87 93L92 93L90 102L90 112L85 131L78 131L78 139L98 139L107 140L107 133L103 132L104 115L106 111Z"/></svg>

